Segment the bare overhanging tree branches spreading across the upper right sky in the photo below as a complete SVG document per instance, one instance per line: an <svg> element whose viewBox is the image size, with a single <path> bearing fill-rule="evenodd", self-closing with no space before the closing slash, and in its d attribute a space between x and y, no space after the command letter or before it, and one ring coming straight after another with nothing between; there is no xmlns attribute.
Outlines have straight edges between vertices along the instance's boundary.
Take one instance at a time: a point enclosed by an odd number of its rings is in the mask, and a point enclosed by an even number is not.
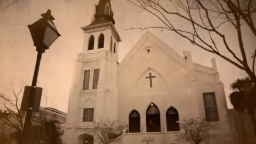
<svg viewBox="0 0 256 144"><path fill-rule="evenodd" d="M153 17L161 21L161 26L137 27L129 29L158 28L174 32L187 39L193 45L219 55L237 68L244 70L254 82L256 47L246 54L242 26L248 27L256 40L256 27L253 15L256 13L256 1L254 0L126 0L149 12ZM186 27L181 28L175 24L173 18L180 18L187 22ZM221 26L234 28L238 42L239 53L235 53L234 47L227 42L227 35ZM206 35L205 35L206 34ZM218 41L218 42L217 42ZM228 53L221 51L224 47ZM246 47L249 48L249 47ZM255 49L255 50L254 50ZM231 55L232 57L229 57ZM252 63L249 63L249 59Z"/></svg>

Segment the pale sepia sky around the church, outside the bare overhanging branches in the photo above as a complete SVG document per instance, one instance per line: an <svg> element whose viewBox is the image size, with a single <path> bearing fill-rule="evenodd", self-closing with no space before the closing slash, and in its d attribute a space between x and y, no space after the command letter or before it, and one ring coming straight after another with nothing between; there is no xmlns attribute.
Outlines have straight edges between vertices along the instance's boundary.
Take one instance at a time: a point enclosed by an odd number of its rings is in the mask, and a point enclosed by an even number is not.
<svg viewBox="0 0 256 144"><path fill-rule="evenodd" d="M0 0L0 10L14 0ZM55 41L49 50L43 54L39 69L37 86L43 87L47 95L47 107L53 107L67 112L69 90L74 69L74 59L82 52L83 31L81 27L90 24L93 17L94 5L98 0L20 0L0 12L0 92L11 95L10 83L14 79L15 89L19 90L20 81L31 85L33 78L36 50L33 45L28 25L41 18L47 9L52 11L54 23L61 37ZM150 15L125 0L112 0L116 29L122 38L119 43L119 59L121 62L132 46L145 33L140 30L124 30L131 27L157 26L159 21L150 18ZM138 25L140 23L140 25ZM183 25L179 23L178 25ZM227 32L228 43L234 51L238 51L236 34L231 27L223 28ZM217 55L210 54L192 45L186 39L170 31L158 29L149 30L174 51L182 55L182 51L191 51L193 61L204 66L212 67L211 59L215 58L220 73L220 79L225 84L228 107L231 104L228 95L230 83L238 77L245 76L230 63ZM245 47L247 52L255 49L255 42L248 30L244 31ZM22 95L20 95L22 96ZM42 97L41 105L45 106Z"/></svg>

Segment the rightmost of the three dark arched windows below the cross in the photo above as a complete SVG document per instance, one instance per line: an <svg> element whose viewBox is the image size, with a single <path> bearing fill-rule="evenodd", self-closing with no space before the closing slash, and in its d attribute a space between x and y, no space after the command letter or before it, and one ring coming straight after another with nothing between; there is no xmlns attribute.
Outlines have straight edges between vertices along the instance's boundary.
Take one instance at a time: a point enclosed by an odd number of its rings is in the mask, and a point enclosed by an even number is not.
<svg viewBox="0 0 256 144"><path fill-rule="evenodd" d="M167 131L180 131L179 114L174 108L169 108L166 111L166 127Z"/></svg>

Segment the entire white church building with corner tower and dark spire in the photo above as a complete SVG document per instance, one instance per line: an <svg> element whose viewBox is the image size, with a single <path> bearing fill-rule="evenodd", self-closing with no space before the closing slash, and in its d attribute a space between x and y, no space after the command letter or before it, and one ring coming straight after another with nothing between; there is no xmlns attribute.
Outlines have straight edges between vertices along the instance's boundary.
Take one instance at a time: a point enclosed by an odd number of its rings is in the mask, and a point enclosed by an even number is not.
<svg viewBox="0 0 256 144"><path fill-rule="evenodd" d="M217 122L220 136L212 143L228 143L230 127L223 83L215 59L212 67L194 63L146 32L121 63L121 37L115 28L110 0L95 5L94 18L83 27L84 45L78 54L68 103L67 144L92 144L93 128L101 118L129 125L118 144L178 144L185 117Z"/></svg>

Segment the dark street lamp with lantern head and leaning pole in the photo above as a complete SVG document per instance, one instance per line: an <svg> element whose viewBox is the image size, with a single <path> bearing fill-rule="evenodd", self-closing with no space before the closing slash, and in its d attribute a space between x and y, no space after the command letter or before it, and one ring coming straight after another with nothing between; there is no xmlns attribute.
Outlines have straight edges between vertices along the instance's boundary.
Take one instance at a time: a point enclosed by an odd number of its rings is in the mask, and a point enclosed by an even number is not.
<svg viewBox="0 0 256 144"><path fill-rule="evenodd" d="M34 42L34 46L36 46L37 58L33 81L30 88L30 95L28 97L28 100L24 100L28 102L26 106L26 116L20 143L27 143L25 139L29 138L30 124L33 116L33 108L35 103L36 83L42 54L45 52L46 49L49 49L52 43L60 36L52 21L54 20L54 18L51 15L51 10L47 10L47 12L41 14L41 16L43 18L39 19L32 25L28 25L31 37Z"/></svg>

